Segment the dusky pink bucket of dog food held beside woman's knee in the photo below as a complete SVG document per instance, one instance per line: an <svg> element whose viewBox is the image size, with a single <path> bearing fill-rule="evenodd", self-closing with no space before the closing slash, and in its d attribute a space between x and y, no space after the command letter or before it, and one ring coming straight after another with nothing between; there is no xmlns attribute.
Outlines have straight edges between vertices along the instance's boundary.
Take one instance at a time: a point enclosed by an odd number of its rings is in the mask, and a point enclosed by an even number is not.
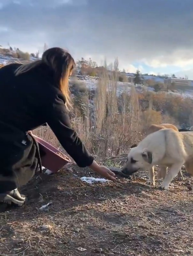
<svg viewBox="0 0 193 256"><path fill-rule="evenodd" d="M71 160L65 154L63 154L49 143L35 135L33 135L33 137L38 142L40 149L45 153L45 155L41 157L41 162L42 166L46 169L56 173L67 163L71 162Z"/></svg>

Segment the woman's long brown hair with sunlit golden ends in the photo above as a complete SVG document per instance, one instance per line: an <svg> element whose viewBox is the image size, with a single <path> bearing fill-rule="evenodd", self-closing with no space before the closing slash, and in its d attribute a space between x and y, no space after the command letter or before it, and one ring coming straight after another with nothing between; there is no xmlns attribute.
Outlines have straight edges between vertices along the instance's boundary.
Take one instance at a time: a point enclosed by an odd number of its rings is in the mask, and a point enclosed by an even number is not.
<svg viewBox="0 0 193 256"><path fill-rule="evenodd" d="M55 81L58 84L59 89L62 91L66 98L66 108L69 110L70 103L70 90L68 85L68 78L71 75L73 68L75 67L75 61L73 57L67 51L59 47L54 47L46 50L41 60L37 60L28 64L23 64L15 71L16 75L26 73L29 70L45 63L54 72Z"/></svg>

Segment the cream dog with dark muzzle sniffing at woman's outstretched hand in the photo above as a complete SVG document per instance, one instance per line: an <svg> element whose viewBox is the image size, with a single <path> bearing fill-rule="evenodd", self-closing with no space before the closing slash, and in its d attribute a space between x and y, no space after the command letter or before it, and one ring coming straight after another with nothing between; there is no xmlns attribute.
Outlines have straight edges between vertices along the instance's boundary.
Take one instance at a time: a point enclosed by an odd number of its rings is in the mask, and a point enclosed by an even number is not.
<svg viewBox="0 0 193 256"><path fill-rule="evenodd" d="M140 169L150 169L154 165L170 167L160 187L168 190L170 182L185 165L193 175L193 132L178 132L161 129L145 137L138 146L132 148L122 173L131 175Z"/></svg>

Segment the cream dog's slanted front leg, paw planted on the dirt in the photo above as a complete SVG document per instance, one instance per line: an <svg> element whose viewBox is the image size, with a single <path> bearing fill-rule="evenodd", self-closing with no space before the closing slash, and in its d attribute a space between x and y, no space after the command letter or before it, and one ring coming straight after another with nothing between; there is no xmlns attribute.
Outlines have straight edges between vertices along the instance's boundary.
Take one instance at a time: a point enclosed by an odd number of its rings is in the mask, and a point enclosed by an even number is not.
<svg viewBox="0 0 193 256"><path fill-rule="evenodd" d="M166 178L163 180L161 185L159 186L163 190L168 190L170 182L174 179L174 177L179 173L183 162L173 164L170 168L170 171L167 173Z"/></svg>

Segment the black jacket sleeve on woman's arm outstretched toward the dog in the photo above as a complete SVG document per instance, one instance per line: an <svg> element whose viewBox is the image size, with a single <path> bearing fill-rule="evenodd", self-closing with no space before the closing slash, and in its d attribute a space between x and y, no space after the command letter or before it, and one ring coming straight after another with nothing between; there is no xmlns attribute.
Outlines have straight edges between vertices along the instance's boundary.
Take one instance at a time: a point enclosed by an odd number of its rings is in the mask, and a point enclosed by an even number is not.
<svg viewBox="0 0 193 256"><path fill-rule="evenodd" d="M71 126L63 95L55 95L46 109L46 113L48 125L66 152L74 159L79 167L90 166L94 158L87 151Z"/></svg>

